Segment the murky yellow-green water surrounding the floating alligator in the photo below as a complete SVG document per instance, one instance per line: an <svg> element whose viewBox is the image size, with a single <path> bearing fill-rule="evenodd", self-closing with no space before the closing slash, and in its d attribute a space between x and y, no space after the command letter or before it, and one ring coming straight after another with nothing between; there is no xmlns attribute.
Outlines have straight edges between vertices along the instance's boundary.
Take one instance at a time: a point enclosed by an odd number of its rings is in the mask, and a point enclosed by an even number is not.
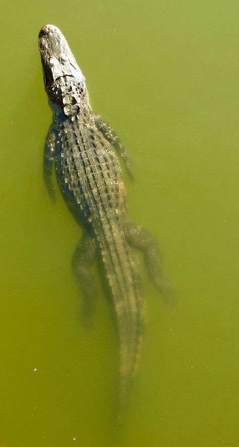
<svg viewBox="0 0 239 447"><path fill-rule="evenodd" d="M67 6L66 6L67 5ZM238 2L52 0L1 6L0 439L7 447L225 447L238 417ZM147 327L121 432L117 346L99 285L91 325L71 257L81 229L43 185L51 113L38 32L66 35L91 104L137 183L130 219L156 236L172 312L142 264ZM97 276L97 271L95 272ZM75 439L74 439L75 438Z"/></svg>

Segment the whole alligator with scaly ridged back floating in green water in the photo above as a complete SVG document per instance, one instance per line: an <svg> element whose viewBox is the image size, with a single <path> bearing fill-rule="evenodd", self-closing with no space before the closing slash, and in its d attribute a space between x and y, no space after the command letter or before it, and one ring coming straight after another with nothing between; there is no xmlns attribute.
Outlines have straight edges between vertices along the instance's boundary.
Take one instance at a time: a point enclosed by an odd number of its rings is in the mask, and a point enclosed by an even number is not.
<svg viewBox="0 0 239 447"><path fill-rule="evenodd" d="M126 192L120 156L133 177L129 155L110 125L89 104L85 78L62 32L53 25L39 33L45 91L53 120L43 156L43 176L52 200L55 166L66 204L83 227L72 267L88 309L96 291L90 273L97 253L104 266L119 344L119 395L124 400L135 375L145 319L145 304L133 248L144 252L149 275L164 296L161 256L155 239L126 217Z"/></svg>

